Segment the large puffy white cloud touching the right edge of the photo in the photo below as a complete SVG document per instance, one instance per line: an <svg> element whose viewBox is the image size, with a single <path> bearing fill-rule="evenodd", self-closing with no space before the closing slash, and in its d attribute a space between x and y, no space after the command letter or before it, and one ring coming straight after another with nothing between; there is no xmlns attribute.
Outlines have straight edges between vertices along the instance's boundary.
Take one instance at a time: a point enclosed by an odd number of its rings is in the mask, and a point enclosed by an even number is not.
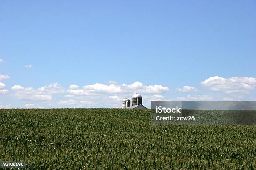
<svg viewBox="0 0 256 170"><path fill-rule="evenodd" d="M249 93L251 90L254 90L256 85L256 78L253 77L210 77L205 81L202 81L201 84L205 87L208 87L213 91L222 91L227 94L231 93Z"/></svg>

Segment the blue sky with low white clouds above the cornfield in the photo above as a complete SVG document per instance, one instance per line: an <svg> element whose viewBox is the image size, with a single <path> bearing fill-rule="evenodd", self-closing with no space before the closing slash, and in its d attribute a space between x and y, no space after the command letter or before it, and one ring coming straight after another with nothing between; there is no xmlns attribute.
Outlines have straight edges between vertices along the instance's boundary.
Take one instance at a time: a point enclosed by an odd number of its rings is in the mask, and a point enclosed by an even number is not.
<svg viewBox="0 0 256 170"><path fill-rule="evenodd" d="M3 0L0 107L255 101L255 30L255 0Z"/></svg>

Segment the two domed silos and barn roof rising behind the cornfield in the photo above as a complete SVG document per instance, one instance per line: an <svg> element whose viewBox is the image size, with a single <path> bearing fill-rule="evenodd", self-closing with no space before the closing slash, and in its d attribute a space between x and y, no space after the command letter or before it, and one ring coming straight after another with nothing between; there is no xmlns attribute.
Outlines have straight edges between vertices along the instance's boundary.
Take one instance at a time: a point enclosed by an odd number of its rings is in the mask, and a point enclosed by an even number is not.
<svg viewBox="0 0 256 170"><path fill-rule="evenodd" d="M138 93L132 96L132 106L130 106L131 101L128 98L122 100L122 109L147 109L147 107L142 105L142 96Z"/></svg>

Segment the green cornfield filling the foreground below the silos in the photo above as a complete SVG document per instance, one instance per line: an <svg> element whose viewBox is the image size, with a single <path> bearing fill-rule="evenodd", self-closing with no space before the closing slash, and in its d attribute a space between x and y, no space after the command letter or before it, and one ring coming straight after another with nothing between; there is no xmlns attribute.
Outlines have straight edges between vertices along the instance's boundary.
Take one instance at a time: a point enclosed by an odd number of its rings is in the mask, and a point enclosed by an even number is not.
<svg viewBox="0 0 256 170"><path fill-rule="evenodd" d="M0 109L0 161L29 170L253 170L256 126L154 126L150 110Z"/></svg>

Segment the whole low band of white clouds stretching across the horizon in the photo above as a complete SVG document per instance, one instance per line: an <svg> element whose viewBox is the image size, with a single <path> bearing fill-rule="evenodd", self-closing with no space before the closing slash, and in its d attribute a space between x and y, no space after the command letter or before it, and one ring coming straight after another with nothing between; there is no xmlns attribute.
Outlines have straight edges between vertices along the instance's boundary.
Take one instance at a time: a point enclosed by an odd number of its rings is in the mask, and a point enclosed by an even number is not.
<svg viewBox="0 0 256 170"><path fill-rule="evenodd" d="M51 83L39 88L13 85L8 92L6 85L0 82L0 95L9 95L18 100L26 101L23 107L120 107L123 98L130 98L138 92L143 95L143 105L150 105L150 101L237 101L243 100L245 94L255 90L256 78L252 77L209 77L200 82L202 87L211 91L223 92L220 94L198 94L195 87L184 86L177 88L178 92L191 93L178 97L166 97L171 92L169 87L163 85L144 85L136 81L131 84L102 84L91 85L71 84L68 88L58 83ZM253 91L255 92L255 91ZM242 93L242 94L241 94ZM174 93L169 93L174 94ZM183 93L182 93L183 94ZM12 103L13 104L13 103ZM14 105L1 105L3 107Z"/></svg>

